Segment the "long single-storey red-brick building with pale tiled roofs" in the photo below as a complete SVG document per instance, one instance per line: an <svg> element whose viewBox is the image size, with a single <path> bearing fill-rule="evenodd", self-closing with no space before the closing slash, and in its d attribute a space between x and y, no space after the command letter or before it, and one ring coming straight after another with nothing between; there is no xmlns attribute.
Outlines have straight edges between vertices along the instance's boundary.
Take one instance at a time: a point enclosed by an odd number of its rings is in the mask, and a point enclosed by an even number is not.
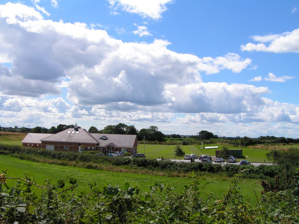
<svg viewBox="0 0 299 224"><path fill-rule="evenodd" d="M23 146L38 145L38 148L52 151L79 152L83 149L102 152L105 155L117 151L125 151L132 155L137 153L138 146L136 135L91 134L82 128L77 128L77 125L56 134L29 133L22 143Z"/></svg>

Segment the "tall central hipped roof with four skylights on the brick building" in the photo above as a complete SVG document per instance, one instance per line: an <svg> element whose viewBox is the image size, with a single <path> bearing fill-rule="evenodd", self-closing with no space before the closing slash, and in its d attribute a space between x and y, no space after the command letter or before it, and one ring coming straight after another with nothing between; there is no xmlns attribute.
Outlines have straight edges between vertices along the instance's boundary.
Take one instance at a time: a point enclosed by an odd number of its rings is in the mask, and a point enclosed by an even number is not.
<svg viewBox="0 0 299 224"><path fill-rule="evenodd" d="M54 135L42 139L47 142L79 142L79 143L98 143L88 131L84 129L68 128L64 131L60 131Z"/></svg>

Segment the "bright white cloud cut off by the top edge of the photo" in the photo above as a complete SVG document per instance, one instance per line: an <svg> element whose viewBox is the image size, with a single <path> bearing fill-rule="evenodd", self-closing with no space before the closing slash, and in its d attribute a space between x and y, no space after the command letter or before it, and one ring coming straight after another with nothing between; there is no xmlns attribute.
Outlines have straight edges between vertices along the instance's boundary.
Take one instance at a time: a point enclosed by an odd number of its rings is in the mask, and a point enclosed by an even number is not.
<svg viewBox="0 0 299 224"><path fill-rule="evenodd" d="M161 14L167 10L166 4L172 3L173 0L107 0L113 10L118 7L128 13L136 13L144 18L158 20Z"/></svg>

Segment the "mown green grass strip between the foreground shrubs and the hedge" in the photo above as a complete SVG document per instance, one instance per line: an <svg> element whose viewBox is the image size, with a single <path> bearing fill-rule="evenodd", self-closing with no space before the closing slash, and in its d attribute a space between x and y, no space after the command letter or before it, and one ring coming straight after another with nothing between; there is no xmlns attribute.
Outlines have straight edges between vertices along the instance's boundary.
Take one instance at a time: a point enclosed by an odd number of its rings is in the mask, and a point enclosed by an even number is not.
<svg viewBox="0 0 299 224"><path fill-rule="evenodd" d="M191 180L190 178L181 177L165 177L165 176L153 176L151 174L135 174L125 172L112 172L112 171L99 171L92 169L59 166L38 162L31 162L27 160L16 159L9 156L0 155L0 171L7 170L10 177L21 177L24 178L23 173L26 172L30 177L34 177L37 184L42 185L46 179L52 180L54 183L59 179L65 179L69 176L72 178L77 178L80 182L81 190L88 188L88 183L97 183L97 185L102 186L103 184L119 185L123 188L124 184L128 182L130 185L137 185L141 188L141 191L149 191L149 187L155 185L155 183L162 183L164 185L170 185L175 187L176 192L183 192L184 185L188 185ZM220 175L212 174L201 174L197 173L199 176L201 190L203 186L208 182L210 183L203 188L202 195L205 197L209 192L213 194L214 197L222 197L228 190L229 183L232 182L232 178L223 177ZM14 184L13 180L7 180L7 184L12 186ZM260 185L260 180L255 179L240 179L239 187L242 189L242 194L244 197L248 197L252 203L256 203L256 197L254 190L257 194L262 191Z"/></svg>

